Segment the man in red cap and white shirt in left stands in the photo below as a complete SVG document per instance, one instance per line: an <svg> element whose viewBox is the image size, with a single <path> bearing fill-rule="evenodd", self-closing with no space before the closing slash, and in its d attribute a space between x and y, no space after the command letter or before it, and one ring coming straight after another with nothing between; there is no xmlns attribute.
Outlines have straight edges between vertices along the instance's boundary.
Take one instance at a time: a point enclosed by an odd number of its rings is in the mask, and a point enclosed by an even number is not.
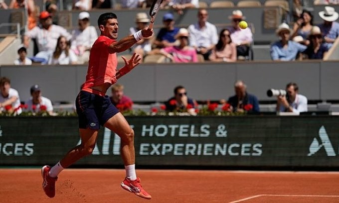
<svg viewBox="0 0 339 203"><path fill-rule="evenodd" d="M40 13L41 27L35 26L24 34L23 44L28 47L29 40L34 38L38 47L37 58L42 59L42 63L47 63L50 53L52 53L57 45L57 39L61 35L65 36L67 40L71 38L65 28L52 24L52 17L49 12L42 11Z"/></svg>

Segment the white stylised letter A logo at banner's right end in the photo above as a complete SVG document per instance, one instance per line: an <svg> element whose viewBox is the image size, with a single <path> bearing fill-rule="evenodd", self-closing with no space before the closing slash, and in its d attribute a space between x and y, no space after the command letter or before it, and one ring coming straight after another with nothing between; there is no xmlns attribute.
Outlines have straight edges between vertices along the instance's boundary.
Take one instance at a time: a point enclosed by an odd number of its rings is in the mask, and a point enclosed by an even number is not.
<svg viewBox="0 0 339 203"><path fill-rule="evenodd" d="M336 156L335 150L333 149L330 138L326 132L324 125L322 125L319 129L319 137L321 139L321 144L318 139L315 137L313 142L310 145L310 153L307 156L312 156L317 153L322 147L325 148L327 156Z"/></svg>

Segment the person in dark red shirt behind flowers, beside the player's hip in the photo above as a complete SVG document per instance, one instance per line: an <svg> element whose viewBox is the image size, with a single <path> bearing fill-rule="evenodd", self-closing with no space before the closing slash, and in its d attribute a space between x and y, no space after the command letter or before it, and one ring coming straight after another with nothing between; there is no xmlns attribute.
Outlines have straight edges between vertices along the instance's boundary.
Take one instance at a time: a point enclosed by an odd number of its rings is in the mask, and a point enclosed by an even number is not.
<svg viewBox="0 0 339 203"><path fill-rule="evenodd" d="M111 102L115 105L120 111L132 110L133 102L131 98L124 95L124 86L116 83L112 85L112 96L110 97Z"/></svg>

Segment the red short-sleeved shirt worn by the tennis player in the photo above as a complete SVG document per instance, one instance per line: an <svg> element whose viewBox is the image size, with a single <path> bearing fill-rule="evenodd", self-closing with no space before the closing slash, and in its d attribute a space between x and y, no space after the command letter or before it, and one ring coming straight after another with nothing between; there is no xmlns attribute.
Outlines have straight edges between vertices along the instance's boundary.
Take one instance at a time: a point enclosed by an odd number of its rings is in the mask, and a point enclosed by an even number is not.
<svg viewBox="0 0 339 203"><path fill-rule="evenodd" d="M109 52L109 46L116 40L106 36L99 36L94 42L89 56L86 81L82 85L82 90L93 93L92 87L104 83L114 84L117 71L117 54Z"/></svg>

